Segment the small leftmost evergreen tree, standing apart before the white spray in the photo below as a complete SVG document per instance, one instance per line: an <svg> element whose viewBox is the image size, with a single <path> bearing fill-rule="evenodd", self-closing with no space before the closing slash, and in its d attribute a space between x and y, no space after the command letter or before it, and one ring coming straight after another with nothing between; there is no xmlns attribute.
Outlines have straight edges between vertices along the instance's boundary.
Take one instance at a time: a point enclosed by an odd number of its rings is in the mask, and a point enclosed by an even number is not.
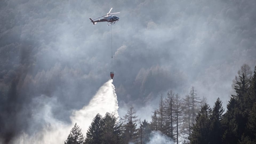
<svg viewBox="0 0 256 144"><path fill-rule="evenodd" d="M75 123L74 127L71 129L70 134L67 136L65 144L82 144L84 143L84 136L81 132L80 127Z"/></svg>

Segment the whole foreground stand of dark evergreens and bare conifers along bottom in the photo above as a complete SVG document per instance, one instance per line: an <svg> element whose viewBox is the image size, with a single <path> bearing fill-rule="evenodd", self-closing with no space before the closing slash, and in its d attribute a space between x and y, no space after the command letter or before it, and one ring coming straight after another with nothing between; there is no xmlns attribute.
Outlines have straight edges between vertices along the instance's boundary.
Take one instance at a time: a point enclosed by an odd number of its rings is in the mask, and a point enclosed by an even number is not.
<svg viewBox="0 0 256 144"><path fill-rule="evenodd" d="M159 108L152 110L151 121L141 121L130 106L118 119L114 114L97 114L86 135L77 124L65 144L77 143L148 143L154 131L173 139L174 143L256 143L256 66L254 71L244 64L233 81L227 109L217 98L210 108L195 87L184 98L169 91L160 96Z"/></svg>

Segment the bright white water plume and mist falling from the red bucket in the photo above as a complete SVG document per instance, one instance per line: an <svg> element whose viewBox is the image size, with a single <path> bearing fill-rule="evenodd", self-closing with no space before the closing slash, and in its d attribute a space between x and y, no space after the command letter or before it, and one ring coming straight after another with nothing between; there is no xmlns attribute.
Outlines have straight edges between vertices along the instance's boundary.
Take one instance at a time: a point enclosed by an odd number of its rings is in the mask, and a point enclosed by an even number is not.
<svg viewBox="0 0 256 144"><path fill-rule="evenodd" d="M46 98L43 102L44 106L37 114L33 114L34 119L38 121L45 121L45 125L41 131L36 131L33 135L22 133L11 143L27 144L27 143L64 143L71 128L77 123L82 129L82 133L86 135L86 131L89 128L93 118L97 113L105 115L106 112L114 113L116 117L118 115L118 103L117 95L115 93L115 86L112 84L113 80L110 79L104 83L94 97L90 100L87 106L84 106L81 110L73 111L71 115L71 124L65 123L53 117L52 110L56 98ZM40 99L45 98L41 97ZM42 103L40 103L42 104ZM1 142L1 141L0 141Z"/></svg>

